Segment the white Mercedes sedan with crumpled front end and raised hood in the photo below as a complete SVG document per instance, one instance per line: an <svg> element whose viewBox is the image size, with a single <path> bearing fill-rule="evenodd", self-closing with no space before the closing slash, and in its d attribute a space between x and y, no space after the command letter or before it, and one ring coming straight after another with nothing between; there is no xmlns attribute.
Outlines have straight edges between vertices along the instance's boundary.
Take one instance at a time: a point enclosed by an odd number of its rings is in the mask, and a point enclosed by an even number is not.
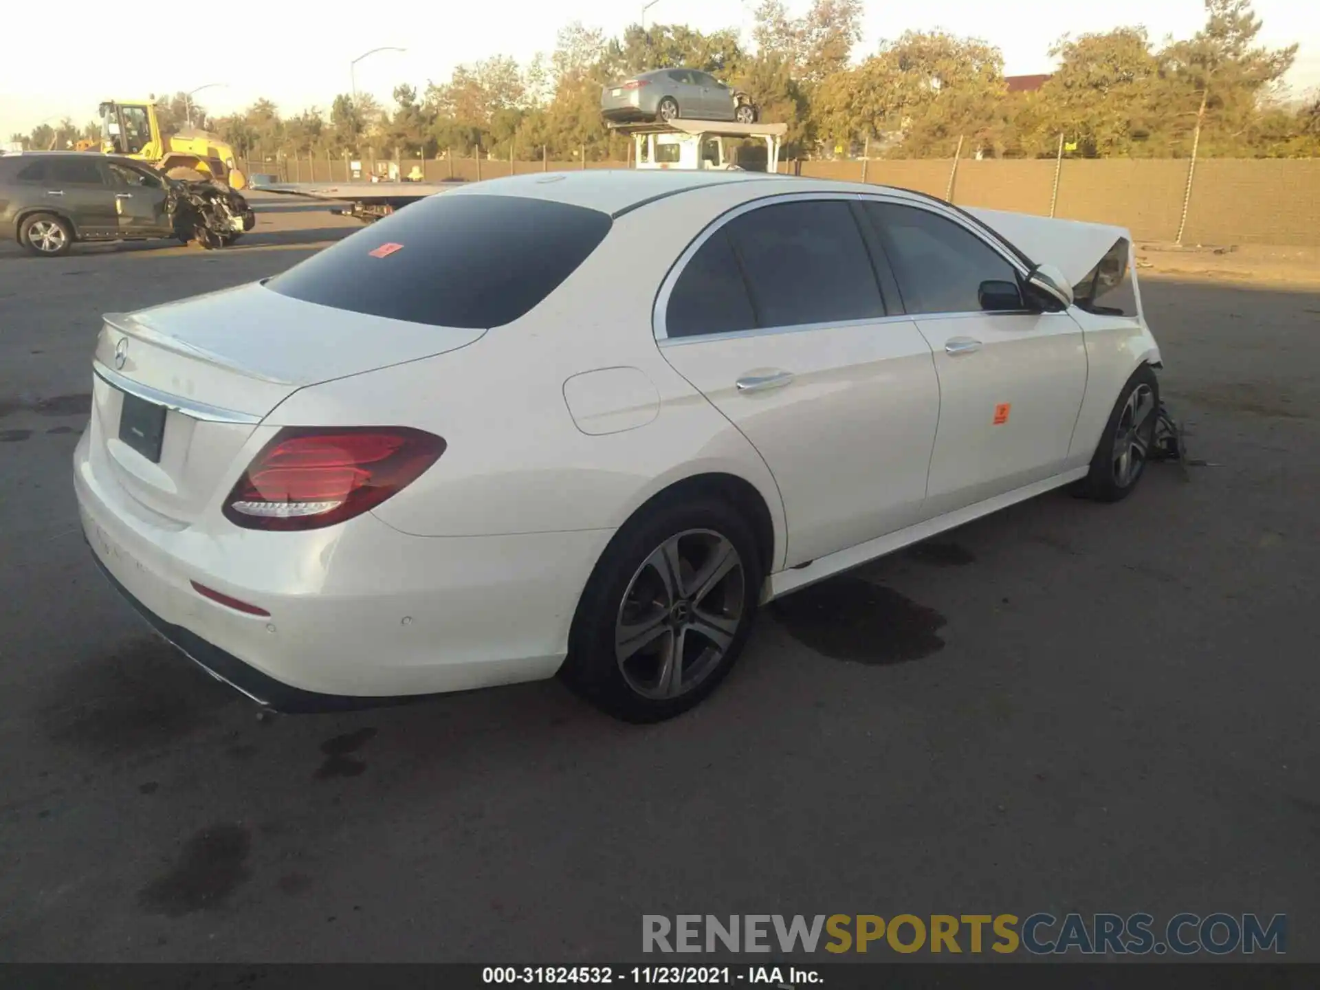
<svg viewBox="0 0 1320 990"><path fill-rule="evenodd" d="M1074 483L1160 366L1126 231L755 173L496 180L96 343L96 562L276 710L549 677L630 721L760 605Z"/></svg>

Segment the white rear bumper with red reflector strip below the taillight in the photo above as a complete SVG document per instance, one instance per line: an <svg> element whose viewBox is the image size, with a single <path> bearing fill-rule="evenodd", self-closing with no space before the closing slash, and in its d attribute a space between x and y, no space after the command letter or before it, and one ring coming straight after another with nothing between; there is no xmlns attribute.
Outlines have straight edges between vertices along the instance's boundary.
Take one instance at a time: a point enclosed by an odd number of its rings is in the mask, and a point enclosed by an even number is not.
<svg viewBox="0 0 1320 990"><path fill-rule="evenodd" d="M418 537L371 513L304 533L154 516L74 454L87 543L115 586L207 671L279 710L550 677L610 531ZM195 587L256 606L251 615Z"/></svg>

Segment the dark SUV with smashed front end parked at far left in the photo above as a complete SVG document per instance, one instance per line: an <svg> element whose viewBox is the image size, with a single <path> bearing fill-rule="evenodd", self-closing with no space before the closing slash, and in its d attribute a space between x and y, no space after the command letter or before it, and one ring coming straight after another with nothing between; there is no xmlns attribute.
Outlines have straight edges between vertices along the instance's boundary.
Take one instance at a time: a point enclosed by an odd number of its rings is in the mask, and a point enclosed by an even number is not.
<svg viewBox="0 0 1320 990"><path fill-rule="evenodd" d="M0 238L15 238L45 257L67 253L75 240L187 243L193 224L185 230L180 223L172 182L148 165L114 154L0 154Z"/></svg>

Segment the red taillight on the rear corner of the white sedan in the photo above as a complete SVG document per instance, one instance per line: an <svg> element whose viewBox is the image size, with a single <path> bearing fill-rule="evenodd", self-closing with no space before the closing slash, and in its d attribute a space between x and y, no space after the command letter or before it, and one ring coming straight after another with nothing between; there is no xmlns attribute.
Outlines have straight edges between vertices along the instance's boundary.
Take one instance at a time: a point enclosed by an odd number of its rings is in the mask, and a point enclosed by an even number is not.
<svg viewBox="0 0 1320 990"><path fill-rule="evenodd" d="M286 426L248 465L224 500L244 529L319 529L379 506L445 453L445 441L407 426Z"/></svg>

